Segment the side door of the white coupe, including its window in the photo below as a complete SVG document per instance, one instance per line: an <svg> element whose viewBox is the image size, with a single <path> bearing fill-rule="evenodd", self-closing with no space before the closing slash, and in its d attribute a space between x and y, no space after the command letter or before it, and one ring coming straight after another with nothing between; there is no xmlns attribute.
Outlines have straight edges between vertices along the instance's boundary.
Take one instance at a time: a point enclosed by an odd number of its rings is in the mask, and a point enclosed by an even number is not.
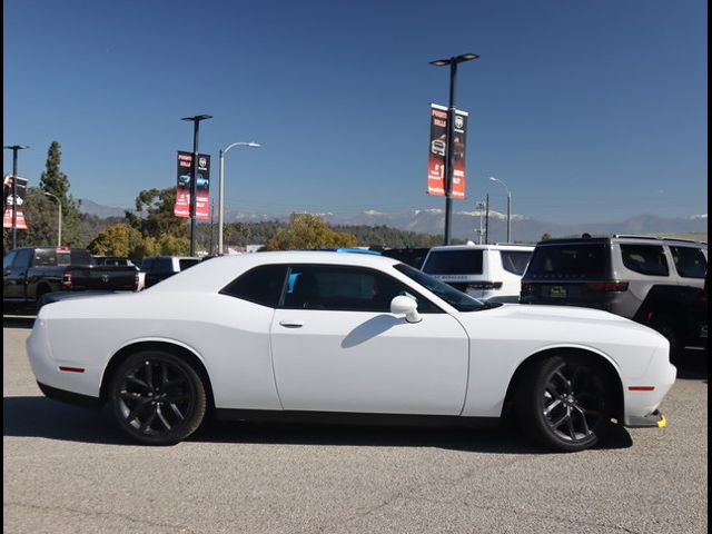
<svg viewBox="0 0 712 534"><path fill-rule="evenodd" d="M451 315L377 270L291 266L275 312L271 350L288 411L458 415L468 338ZM418 300L422 320L389 312Z"/></svg>

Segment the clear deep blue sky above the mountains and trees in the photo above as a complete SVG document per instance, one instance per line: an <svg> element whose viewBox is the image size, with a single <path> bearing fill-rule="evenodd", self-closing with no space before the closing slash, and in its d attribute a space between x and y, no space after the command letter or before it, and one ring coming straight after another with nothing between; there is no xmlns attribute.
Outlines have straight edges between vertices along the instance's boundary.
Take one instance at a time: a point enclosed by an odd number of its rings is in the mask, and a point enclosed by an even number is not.
<svg viewBox="0 0 712 534"><path fill-rule="evenodd" d="M3 145L37 185L52 140L75 197L130 206L175 184L180 117L226 159L226 204L343 215L425 194L428 105L471 113L467 210L551 221L706 214L706 2L3 2ZM452 17L448 22L447 17ZM3 170L11 170L10 154ZM217 189L214 187L214 189Z"/></svg>

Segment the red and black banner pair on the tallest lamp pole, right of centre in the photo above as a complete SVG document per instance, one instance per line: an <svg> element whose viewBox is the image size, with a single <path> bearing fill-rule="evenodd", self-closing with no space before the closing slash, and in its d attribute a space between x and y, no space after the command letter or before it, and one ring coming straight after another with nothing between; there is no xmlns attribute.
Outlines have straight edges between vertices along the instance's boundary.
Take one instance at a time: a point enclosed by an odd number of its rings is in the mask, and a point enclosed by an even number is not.
<svg viewBox="0 0 712 534"><path fill-rule="evenodd" d="M466 111L455 110L453 131L453 195L452 198L465 198L465 142L467 136ZM447 108L431 105L431 146L427 158L427 192L445 196L445 155L447 146Z"/></svg>

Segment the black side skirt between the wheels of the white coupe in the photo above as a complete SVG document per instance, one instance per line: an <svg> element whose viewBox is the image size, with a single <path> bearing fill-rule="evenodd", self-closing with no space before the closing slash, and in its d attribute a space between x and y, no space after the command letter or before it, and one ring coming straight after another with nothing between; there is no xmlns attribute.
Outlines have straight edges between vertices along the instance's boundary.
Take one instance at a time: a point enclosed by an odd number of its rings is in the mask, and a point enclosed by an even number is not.
<svg viewBox="0 0 712 534"><path fill-rule="evenodd" d="M431 426L493 428L500 417L461 417L457 415L360 414L352 412L296 412L278 409L217 408L219 421L260 423L307 423L362 426Z"/></svg>

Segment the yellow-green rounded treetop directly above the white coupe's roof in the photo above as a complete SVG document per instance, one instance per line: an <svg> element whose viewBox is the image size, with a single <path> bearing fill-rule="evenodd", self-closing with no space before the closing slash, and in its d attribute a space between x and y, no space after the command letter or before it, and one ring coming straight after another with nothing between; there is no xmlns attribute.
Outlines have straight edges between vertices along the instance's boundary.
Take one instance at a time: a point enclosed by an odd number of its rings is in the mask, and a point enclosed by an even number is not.
<svg viewBox="0 0 712 534"><path fill-rule="evenodd" d="M310 250L315 248L355 247L356 236L334 231L316 215L294 215L285 228L277 230L265 250Z"/></svg>

